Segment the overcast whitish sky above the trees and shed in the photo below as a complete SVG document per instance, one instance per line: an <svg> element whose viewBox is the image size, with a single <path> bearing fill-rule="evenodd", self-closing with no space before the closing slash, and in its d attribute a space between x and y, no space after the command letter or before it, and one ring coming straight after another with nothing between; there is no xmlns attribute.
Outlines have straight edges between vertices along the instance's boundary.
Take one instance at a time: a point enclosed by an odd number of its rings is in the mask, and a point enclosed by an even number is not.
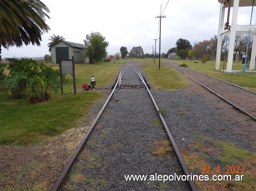
<svg viewBox="0 0 256 191"><path fill-rule="evenodd" d="M2 58L43 57L49 54L47 44L51 35L63 36L66 41L83 43L86 34L99 32L109 42L109 54L141 46L144 53L152 53L153 39L159 38L161 4L161 53L175 47L183 38L193 45L195 41L209 40L218 34L220 3L217 0L42 0L50 9L51 30L43 34L41 47L23 46L2 48ZM168 4L167 4L168 2ZM167 5L167 6L166 6ZM166 8L165 8L166 7ZM165 8L165 9L164 9ZM238 24L249 24L251 7L239 9ZM253 22L255 24L255 14ZM230 20L231 21L231 20ZM154 47L155 48L155 47ZM159 41L156 45L159 52Z"/></svg>

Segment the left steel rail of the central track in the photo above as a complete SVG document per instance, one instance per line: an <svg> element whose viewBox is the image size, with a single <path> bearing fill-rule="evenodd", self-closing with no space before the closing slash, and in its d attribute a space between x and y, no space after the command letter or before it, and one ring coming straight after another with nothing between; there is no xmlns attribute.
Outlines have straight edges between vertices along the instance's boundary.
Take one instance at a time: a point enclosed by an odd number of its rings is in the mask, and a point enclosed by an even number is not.
<svg viewBox="0 0 256 191"><path fill-rule="evenodd" d="M124 65L123 65L124 67ZM113 95L117 85L118 85L118 82L119 80L121 79L120 76L121 76L121 73L123 71L123 67L122 67L122 70L119 74L119 78L117 80L117 83L114 87L114 89L112 90L109 98L107 99L107 101L105 102L105 104L103 105L103 107L101 108L99 114L97 115L97 117L95 118L93 124L91 125L90 129L87 131L87 133L85 134L84 138L82 139L82 141L80 142L80 144L78 145L77 149L75 150L74 154L72 155L72 157L70 158L70 160L68 161L67 165L65 166L64 170L61 172L58 180L56 181L56 183L54 184L54 186L52 187L51 191L56 191L56 190L59 190L60 189L60 186L63 182L63 180L65 179L67 173L69 172L70 168L72 167L74 161L76 160L77 158L77 155L79 154L82 146L84 145L84 143L86 142L87 138L89 137L89 135L91 134L92 130L94 129L94 126L96 125L96 123L98 122L98 119L100 117L100 115L102 114L103 110L105 109L106 105L108 104L111 96Z"/></svg>

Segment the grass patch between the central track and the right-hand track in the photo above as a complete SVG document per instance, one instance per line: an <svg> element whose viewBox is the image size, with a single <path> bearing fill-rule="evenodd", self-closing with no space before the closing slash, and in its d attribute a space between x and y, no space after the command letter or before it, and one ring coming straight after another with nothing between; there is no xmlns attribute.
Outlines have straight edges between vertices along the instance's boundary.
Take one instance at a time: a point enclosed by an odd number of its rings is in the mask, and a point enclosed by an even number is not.
<svg viewBox="0 0 256 191"><path fill-rule="evenodd" d="M177 90L186 87L188 84L174 69L165 65L162 60L160 62L160 69L158 61L154 63L151 59L137 59L132 62L142 62L140 65L143 65L143 72L146 73L147 81L152 88Z"/></svg>

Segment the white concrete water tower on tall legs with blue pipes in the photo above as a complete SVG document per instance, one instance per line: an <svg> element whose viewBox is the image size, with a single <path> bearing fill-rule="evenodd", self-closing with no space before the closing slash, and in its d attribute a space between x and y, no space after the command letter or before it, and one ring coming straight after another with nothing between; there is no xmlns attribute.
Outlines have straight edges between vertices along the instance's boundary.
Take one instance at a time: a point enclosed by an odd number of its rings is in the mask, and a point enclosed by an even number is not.
<svg viewBox="0 0 256 191"><path fill-rule="evenodd" d="M219 36L218 36L215 70L220 69L222 36L224 34L230 34L227 72L231 72L233 53L234 53L235 34L248 34L249 29L250 29L250 34L253 34L253 45L252 45L252 54L251 54L249 70L254 70L255 56L256 56L256 23L255 21L252 21L253 22L252 25L238 25L237 16L238 16L239 7L256 6L256 0L254 1L253 0L218 0L218 2L221 3L221 11L220 11ZM229 6L233 7L232 22L231 22L231 25L230 23L225 23L225 26L224 26L225 8L229 8ZM228 18L229 18L229 15L228 15Z"/></svg>

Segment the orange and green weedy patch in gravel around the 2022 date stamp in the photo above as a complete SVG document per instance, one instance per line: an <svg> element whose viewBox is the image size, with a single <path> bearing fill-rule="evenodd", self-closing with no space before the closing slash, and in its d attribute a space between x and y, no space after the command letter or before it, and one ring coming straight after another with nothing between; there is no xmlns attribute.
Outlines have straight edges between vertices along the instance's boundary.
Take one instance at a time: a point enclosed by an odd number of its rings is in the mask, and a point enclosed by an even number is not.
<svg viewBox="0 0 256 191"><path fill-rule="evenodd" d="M245 166L242 181L195 181L198 190L255 190L255 153L238 148L234 143L228 141L216 141L203 135L198 135L195 138L197 142L188 145L189 152L180 150L186 165L194 174L198 174L198 172L200 172L199 175L201 174L202 165L211 167L213 173L210 176L219 175L215 171L218 165L223 174L226 174L228 170L226 165ZM217 160L213 163L214 158ZM230 173L230 175L234 177L237 174Z"/></svg>

